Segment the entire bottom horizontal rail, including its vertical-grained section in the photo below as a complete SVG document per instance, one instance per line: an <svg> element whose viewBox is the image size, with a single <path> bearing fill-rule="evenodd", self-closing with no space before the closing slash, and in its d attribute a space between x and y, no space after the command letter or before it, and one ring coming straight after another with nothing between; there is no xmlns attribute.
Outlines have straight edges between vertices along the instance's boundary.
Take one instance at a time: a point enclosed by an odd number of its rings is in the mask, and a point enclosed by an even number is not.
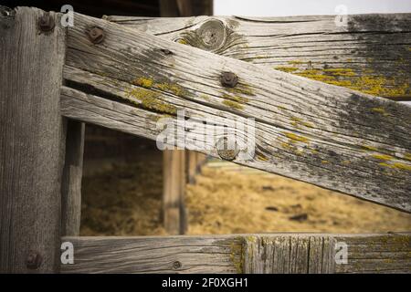
<svg viewBox="0 0 411 292"><path fill-rule="evenodd" d="M62 241L74 245L74 264L62 265L62 273L411 273L410 234L63 237ZM347 246L346 264L335 262L335 257L341 259L336 253L342 244ZM375 252L374 246L384 250Z"/></svg>

